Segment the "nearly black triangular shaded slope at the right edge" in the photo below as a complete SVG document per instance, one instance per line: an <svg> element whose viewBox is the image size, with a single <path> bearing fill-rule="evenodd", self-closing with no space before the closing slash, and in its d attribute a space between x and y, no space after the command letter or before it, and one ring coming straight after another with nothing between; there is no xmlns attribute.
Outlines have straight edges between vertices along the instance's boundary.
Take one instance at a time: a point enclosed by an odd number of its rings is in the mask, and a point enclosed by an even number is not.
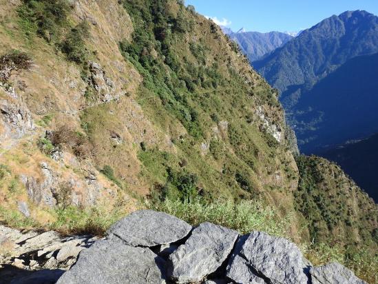
<svg viewBox="0 0 378 284"><path fill-rule="evenodd" d="M340 165L377 203L378 134L330 149L320 155Z"/></svg>

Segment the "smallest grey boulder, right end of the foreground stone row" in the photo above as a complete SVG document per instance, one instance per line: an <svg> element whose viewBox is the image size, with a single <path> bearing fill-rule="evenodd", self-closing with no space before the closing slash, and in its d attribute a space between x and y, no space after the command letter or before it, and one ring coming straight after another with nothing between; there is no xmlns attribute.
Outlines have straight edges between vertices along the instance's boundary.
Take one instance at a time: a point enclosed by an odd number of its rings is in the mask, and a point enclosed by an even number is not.
<svg viewBox="0 0 378 284"><path fill-rule="evenodd" d="M310 274L313 284L366 284L339 263L311 267Z"/></svg>

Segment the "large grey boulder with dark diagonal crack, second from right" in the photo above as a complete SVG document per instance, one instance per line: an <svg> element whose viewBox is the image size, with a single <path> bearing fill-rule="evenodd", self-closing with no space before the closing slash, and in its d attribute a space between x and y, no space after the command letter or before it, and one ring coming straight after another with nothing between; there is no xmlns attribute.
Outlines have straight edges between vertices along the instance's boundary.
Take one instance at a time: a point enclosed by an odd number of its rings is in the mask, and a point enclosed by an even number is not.
<svg viewBox="0 0 378 284"><path fill-rule="evenodd" d="M236 283L307 284L309 265L290 241L252 232L238 241L227 276Z"/></svg>

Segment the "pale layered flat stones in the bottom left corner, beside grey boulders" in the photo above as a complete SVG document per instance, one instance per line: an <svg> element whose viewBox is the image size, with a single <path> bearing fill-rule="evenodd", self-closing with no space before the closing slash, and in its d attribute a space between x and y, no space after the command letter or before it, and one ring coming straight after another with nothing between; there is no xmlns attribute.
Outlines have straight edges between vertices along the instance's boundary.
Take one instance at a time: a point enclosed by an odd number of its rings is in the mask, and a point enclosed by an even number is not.
<svg viewBox="0 0 378 284"><path fill-rule="evenodd" d="M20 232L0 225L0 279L9 280L5 283L55 283L76 262L79 252L96 240L53 231ZM39 272L34 275L34 270ZM45 282L39 281L42 278Z"/></svg>

